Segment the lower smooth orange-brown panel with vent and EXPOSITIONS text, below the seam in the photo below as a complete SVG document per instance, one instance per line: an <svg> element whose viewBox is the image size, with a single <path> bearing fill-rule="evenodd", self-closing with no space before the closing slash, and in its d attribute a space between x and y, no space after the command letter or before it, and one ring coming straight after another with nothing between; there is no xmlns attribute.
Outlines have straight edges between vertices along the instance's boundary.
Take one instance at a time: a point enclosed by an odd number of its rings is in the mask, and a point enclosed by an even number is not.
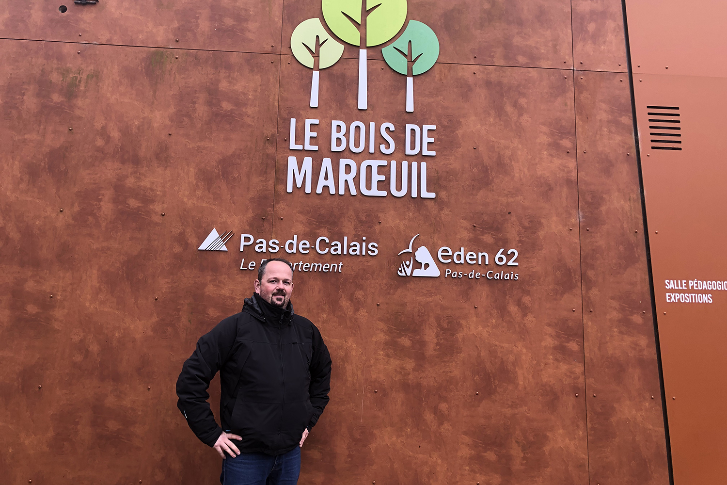
<svg viewBox="0 0 727 485"><path fill-rule="evenodd" d="M727 366L727 295L711 285L727 280L722 209L727 205L727 78L638 76L636 116L674 483L718 483L727 473L727 378L718 370ZM681 151L651 143L666 138L652 132L667 131L651 126L676 125L651 121L675 119L648 114L663 111L680 115ZM710 286L702 287L702 281ZM698 294L710 295L711 302L692 301ZM694 297L676 300L679 295Z"/></svg>

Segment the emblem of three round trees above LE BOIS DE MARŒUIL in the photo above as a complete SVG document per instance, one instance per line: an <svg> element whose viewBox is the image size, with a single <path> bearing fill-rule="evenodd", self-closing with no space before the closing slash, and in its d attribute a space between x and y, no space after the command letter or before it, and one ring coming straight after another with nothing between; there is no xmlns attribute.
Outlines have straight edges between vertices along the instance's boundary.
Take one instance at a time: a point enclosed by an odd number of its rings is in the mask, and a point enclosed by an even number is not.
<svg viewBox="0 0 727 485"><path fill-rule="evenodd" d="M358 109L368 108L366 47L390 41L406 22L406 0L323 0L326 25L342 41L358 46ZM333 39L318 18L303 20L290 37L293 55L313 69L310 108L318 108L318 72L343 55L343 44ZM406 76L406 111L414 112L414 76L429 71L439 57L439 40L425 23L409 20L398 39L381 49L394 71Z"/></svg>

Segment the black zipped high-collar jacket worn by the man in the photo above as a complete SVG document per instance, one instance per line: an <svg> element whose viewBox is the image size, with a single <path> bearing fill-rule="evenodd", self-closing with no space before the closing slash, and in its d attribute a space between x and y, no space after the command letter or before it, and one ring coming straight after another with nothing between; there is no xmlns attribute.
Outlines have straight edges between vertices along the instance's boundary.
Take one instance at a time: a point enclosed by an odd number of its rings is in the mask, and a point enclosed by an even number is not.
<svg viewBox="0 0 727 485"><path fill-rule="evenodd" d="M177 380L177 407L197 437L213 446L222 430L242 436L241 452L283 454L321 417L331 382L331 356L313 323L288 303L278 311L253 294L240 313L220 321L197 342ZM277 321L274 321L277 320ZM207 399L220 371L220 420Z"/></svg>

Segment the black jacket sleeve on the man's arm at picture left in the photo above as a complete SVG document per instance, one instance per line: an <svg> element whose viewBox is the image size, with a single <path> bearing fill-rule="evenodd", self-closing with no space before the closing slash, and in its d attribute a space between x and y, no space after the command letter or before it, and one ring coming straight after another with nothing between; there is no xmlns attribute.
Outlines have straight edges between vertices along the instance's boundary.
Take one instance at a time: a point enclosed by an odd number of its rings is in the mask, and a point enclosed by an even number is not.
<svg viewBox="0 0 727 485"><path fill-rule="evenodd" d="M177 407L197 438L214 446L222 428L214 420L209 407L209 381L228 360L237 334L236 318L222 320L197 341L197 348L182 366L177 379Z"/></svg>

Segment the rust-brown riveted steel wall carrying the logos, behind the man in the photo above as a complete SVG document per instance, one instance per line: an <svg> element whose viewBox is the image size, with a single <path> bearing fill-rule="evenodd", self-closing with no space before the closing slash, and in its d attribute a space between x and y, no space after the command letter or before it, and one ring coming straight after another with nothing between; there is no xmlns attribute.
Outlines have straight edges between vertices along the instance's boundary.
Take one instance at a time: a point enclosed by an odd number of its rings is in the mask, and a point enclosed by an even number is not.
<svg viewBox="0 0 727 485"><path fill-rule="evenodd" d="M334 359L301 484L668 483L619 1L410 0L441 47L414 113L373 48L358 110L350 45L309 107L288 46L320 1L6 3L4 483L216 483L174 382L251 292L241 259L270 257L243 233L378 244L296 272ZM292 118L297 143L320 121L320 151L289 148ZM336 119L392 123L384 158L427 162L436 197L316 193L323 157L381 158L332 153ZM436 125L436 156L406 156L406 124ZM289 156L313 158L312 193L287 191ZM198 251L213 227L228 252ZM398 276L417 233L519 278Z"/></svg>

